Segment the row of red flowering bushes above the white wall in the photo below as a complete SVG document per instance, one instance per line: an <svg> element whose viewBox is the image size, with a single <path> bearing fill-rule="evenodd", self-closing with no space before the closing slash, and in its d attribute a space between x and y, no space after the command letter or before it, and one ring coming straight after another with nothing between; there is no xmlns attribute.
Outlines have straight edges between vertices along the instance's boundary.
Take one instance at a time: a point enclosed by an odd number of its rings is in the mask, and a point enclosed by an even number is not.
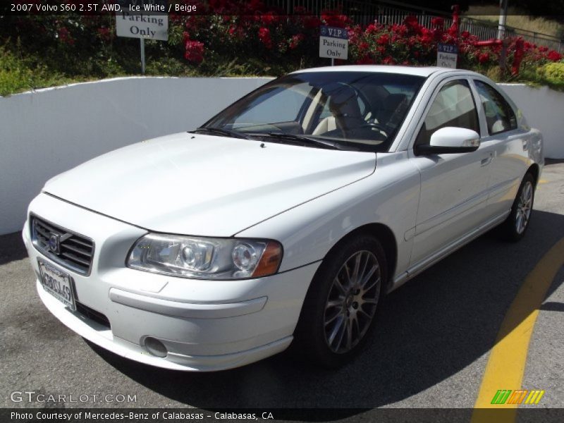
<svg viewBox="0 0 564 423"><path fill-rule="evenodd" d="M217 63L232 61L240 66L252 64L261 71L274 66L280 73L298 66L326 63L317 57L319 25L348 30L348 61L339 63L434 65L438 43L458 46L458 66L462 68L486 71L497 66L501 56L501 46L477 47L477 37L467 31L459 33L455 25L446 27L441 17L432 18L430 27L421 25L417 16L407 16L399 24L374 22L361 27L335 9L322 11L318 18L300 6L287 15L285 10L266 6L262 0L179 1L196 6L198 13L169 16L168 49L176 57L183 57L185 63L199 66L204 73L216 72ZM95 37L104 45L115 42L113 30L98 16L77 19L78 24L54 22L54 38L66 49L84 38L80 37L78 28L94 30ZM49 25L42 31L46 28ZM538 66L562 59L561 54L546 47L525 42L520 52L516 44L517 40L513 39L507 46L508 65L513 63L516 54L522 55L522 66Z"/></svg>

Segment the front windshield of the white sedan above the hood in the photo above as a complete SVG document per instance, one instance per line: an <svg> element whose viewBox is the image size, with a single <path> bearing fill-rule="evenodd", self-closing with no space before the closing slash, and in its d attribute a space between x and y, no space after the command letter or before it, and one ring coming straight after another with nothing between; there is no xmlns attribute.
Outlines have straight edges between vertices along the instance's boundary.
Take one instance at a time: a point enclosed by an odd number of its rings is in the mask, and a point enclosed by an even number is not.
<svg viewBox="0 0 564 423"><path fill-rule="evenodd" d="M384 152L423 82L420 76L394 73L286 75L221 111L204 128L264 141L300 139L322 146L323 140L341 148Z"/></svg>

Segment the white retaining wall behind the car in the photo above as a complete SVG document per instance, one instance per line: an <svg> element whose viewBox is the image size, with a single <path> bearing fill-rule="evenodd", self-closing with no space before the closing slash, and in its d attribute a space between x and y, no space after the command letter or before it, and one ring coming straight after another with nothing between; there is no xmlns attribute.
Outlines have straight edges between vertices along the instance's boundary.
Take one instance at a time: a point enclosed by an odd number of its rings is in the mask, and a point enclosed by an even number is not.
<svg viewBox="0 0 564 423"><path fill-rule="evenodd" d="M133 142L201 125L269 78L117 78L0 97L0 234L58 173ZM545 155L564 158L564 94L503 85Z"/></svg>

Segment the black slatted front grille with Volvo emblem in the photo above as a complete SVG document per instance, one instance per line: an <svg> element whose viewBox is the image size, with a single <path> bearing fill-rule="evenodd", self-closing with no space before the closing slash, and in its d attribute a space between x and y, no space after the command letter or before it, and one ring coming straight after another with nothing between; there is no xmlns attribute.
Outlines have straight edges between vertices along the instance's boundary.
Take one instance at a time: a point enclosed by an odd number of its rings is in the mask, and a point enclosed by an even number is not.
<svg viewBox="0 0 564 423"><path fill-rule="evenodd" d="M90 274L94 256L94 241L90 238L35 216L31 220L31 235L33 245L49 259L78 274Z"/></svg>

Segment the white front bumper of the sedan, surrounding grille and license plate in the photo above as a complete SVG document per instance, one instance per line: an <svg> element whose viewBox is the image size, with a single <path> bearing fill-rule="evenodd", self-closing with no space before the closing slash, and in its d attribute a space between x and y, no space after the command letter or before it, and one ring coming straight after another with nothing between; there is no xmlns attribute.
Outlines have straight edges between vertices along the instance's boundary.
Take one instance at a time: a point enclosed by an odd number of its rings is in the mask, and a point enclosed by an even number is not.
<svg viewBox="0 0 564 423"><path fill-rule="evenodd" d="M147 231L41 194L30 212L87 235L97 246L90 276L51 262L23 238L39 278L37 258L73 278L75 300L102 314L109 325L73 312L42 288L44 305L89 341L132 360L168 369L214 371L261 360L286 349L318 264L266 278L202 281L150 274L125 266L128 251ZM145 348L147 338L166 346L166 357Z"/></svg>

